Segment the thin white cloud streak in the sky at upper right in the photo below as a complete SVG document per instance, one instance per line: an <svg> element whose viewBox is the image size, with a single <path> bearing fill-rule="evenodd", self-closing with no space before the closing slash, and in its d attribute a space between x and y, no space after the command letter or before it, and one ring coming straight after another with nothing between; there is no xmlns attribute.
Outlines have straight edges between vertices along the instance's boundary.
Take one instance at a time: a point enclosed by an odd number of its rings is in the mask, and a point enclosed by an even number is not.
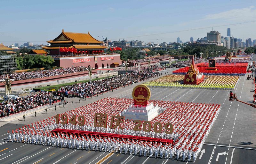
<svg viewBox="0 0 256 164"><path fill-rule="evenodd" d="M249 21L255 20L256 18L256 8L255 6L249 6L242 9L233 9L217 14L208 14L204 16L202 20L212 20L219 19L225 21Z"/></svg>

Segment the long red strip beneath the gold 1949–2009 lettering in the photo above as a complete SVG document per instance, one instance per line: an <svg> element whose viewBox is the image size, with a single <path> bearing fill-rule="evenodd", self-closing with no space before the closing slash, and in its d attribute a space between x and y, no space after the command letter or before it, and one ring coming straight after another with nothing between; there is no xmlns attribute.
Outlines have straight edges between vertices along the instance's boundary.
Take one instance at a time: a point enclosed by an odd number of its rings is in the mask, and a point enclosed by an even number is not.
<svg viewBox="0 0 256 164"><path fill-rule="evenodd" d="M134 140L141 140L141 141L148 141L148 142L161 142L161 143L172 143L172 139L163 139L163 138L151 138L151 137L141 137L141 136L131 136L131 135L123 135L123 134L113 134L113 133L101 133L101 132L94 132L94 131L82 131L82 130L68 130L68 129L54 129L52 132L59 132L59 133L72 133L76 135L86 135L86 136L93 136L93 137L113 137L113 138L125 138L125 139L134 139Z"/></svg>

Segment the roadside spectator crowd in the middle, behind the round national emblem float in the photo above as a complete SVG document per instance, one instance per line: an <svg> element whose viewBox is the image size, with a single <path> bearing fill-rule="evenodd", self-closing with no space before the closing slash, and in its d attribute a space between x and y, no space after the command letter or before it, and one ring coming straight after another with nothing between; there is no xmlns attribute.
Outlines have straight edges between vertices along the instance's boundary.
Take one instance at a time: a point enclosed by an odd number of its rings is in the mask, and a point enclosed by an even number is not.
<svg viewBox="0 0 256 164"><path fill-rule="evenodd" d="M107 91L113 91L119 87L126 85L132 85L138 83L141 80L147 78L152 78L158 76L157 72L148 72L148 71L133 71L131 73L116 75L110 78L104 78L101 80L96 80L87 82L87 83L76 83L70 86L61 87L59 92L65 94L68 91L70 96L83 96L83 97L92 97L94 95L104 93Z"/></svg>

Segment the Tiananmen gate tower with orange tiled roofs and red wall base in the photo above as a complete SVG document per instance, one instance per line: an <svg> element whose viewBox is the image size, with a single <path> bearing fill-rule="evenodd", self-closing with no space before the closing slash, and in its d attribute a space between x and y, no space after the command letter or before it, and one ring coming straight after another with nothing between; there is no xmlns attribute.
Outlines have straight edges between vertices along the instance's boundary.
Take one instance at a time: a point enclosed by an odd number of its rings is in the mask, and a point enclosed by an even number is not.
<svg viewBox="0 0 256 164"><path fill-rule="evenodd" d="M58 67L85 66L92 68L108 68L113 63L119 63L120 54L106 54L105 46L101 46L102 41L93 38L90 33L71 33L64 32L55 39L47 41L51 46L43 47L48 55L54 58L55 65ZM61 52L60 49L76 48L74 52Z"/></svg>

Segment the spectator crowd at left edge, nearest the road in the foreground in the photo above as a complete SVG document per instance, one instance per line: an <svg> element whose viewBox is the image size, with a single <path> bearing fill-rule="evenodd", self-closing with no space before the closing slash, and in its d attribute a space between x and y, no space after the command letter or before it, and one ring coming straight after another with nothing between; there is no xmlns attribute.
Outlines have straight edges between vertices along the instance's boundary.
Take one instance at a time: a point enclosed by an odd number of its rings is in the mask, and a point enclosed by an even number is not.
<svg viewBox="0 0 256 164"><path fill-rule="evenodd" d="M10 116L25 110L40 107L49 104L49 99L52 101L59 100L58 97L53 97L50 93L35 93L26 97L18 97L17 99L8 99L0 103L0 117Z"/></svg>

